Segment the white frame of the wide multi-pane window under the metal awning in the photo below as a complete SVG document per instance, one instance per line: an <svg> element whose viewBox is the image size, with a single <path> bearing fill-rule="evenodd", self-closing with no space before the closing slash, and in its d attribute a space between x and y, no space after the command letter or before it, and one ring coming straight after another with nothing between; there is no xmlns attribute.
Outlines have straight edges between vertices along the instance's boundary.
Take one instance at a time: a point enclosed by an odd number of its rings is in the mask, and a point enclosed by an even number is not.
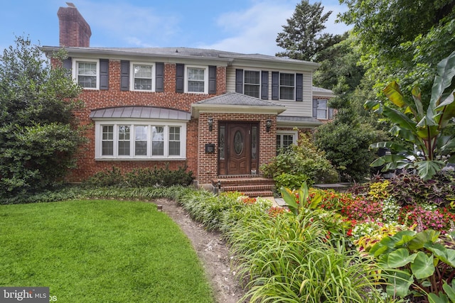
<svg viewBox="0 0 455 303"><path fill-rule="evenodd" d="M118 155L118 128L119 125L130 126L129 155ZM102 155L102 127L114 126L114 155ZM149 126L147 128L147 155L134 155L135 131L134 126ZM151 126L164 126L164 155L151 155ZM171 126L180 128L180 155L168 155L169 132ZM186 160L186 123L164 120L102 120L95 121L95 160Z"/></svg>

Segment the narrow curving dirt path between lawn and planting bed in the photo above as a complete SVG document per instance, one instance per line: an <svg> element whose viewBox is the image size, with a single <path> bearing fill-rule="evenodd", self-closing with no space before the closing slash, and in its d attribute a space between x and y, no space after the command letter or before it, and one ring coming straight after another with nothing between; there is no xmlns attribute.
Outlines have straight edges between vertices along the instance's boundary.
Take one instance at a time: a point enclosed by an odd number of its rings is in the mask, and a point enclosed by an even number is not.
<svg viewBox="0 0 455 303"><path fill-rule="evenodd" d="M157 205L180 226L181 230L193 243L193 247L202 260L208 279L213 285L218 303L236 303L245 294L230 270L228 247L217 232L206 231L196 223L176 202L168 199L156 199Z"/></svg>

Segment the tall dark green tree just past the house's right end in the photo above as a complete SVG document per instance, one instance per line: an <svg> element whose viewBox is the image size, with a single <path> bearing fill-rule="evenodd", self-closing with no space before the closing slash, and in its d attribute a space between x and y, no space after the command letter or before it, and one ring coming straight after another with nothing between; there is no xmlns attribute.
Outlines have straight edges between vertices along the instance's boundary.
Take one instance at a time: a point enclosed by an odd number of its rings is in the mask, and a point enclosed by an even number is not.
<svg viewBox="0 0 455 303"><path fill-rule="evenodd" d="M374 160L368 149L378 138L384 138L375 129L375 121L363 109L365 99L360 97L360 83L365 74L363 66L358 65L360 53L356 39L349 36L346 40L323 50L326 60L315 72L316 85L332 89L336 94L330 100L330 107L337 109L333 121L316 129L314 141L326 153L326 158L336 167L343 180L361 182L370 175L369 164ZM358 104L361 100L361 111Z"/></svg>

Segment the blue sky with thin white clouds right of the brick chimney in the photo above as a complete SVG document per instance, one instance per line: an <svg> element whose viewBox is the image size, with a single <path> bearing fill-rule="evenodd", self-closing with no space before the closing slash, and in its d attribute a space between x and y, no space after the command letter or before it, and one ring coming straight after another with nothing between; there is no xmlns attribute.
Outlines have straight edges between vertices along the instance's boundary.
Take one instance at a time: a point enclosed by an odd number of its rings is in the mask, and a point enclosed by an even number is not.
<svg viewBox="0 0 455 303"><path fill-rule="evenodd" d="M246 0L245 0L246 1ZM91 46L104 47L163 47L188 46L211 48L238 53L274 55L282 51L276 38L287 18L291 18L297 0L250 0L244 10L230 6L232 11L212 9L213 23L191 22L194 11L166 10L160 4L125 3L111 0L78 0L77 9L92 27ZM327 33L344 33L347 28L334 20L343 7L336 0L323 0L325 11L333 13L326 23ZM198 12L200 13L200 12ZM206 16L202 12L201 16ZM185 18L188 18L185 20ZM198 18L200 21L200 18ZM200 28L200 26L203 28ZM213 38L215 37L215 38ZM206 39L206 40L204 40ZM211 39L211 40L209 40Z"/></svg>

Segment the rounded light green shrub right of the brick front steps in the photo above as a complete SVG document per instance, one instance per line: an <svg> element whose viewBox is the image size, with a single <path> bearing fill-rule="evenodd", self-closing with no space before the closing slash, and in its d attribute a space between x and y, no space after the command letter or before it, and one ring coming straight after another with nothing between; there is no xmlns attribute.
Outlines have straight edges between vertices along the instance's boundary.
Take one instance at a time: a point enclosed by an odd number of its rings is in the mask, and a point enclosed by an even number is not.
<svg viewBox="0 0 455 303"><path fill-rule="evenodd" d="M282 173L306 175L312 183L338 182L338 173L326 159L323 151L311 143L309 136L301 134L299 145L290 145L269 162L262 165L264 177L275 179Z"/></svg>

